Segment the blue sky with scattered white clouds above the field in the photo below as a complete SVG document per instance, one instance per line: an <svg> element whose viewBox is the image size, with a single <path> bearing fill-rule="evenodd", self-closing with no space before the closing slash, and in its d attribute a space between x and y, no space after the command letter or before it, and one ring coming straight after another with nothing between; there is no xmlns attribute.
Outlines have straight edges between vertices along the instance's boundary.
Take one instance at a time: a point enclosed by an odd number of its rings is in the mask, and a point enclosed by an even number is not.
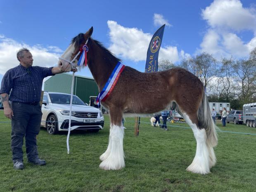
<svg viewBox="0 0 256 192"><path fill-rule="evenodd" d="M28 48L33 66L57 66L73 37L93 26L123 63L145 71L154 32L166 24L160 59L174 63L208 52L216 59L246 58L256 47L254 0L0 0L0 81ZM92 77L88 68L76 73Z"/></svg>

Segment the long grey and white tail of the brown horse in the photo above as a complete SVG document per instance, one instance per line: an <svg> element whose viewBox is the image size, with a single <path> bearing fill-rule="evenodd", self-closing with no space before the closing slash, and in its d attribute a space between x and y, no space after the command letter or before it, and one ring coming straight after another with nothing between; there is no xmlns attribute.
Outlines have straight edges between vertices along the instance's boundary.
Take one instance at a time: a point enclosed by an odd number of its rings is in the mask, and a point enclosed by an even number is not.
<svg viewBox="0 0 256 192"><path fill-rule="evenodd" d="M218 137L216 133L217 127L211 117L211 109L209 107L208 99L205 95L205 92L200 107L197 111L197 116L199 121L199 128L204 128L206 130L207 145L215 147L218 144Z"/></svg>

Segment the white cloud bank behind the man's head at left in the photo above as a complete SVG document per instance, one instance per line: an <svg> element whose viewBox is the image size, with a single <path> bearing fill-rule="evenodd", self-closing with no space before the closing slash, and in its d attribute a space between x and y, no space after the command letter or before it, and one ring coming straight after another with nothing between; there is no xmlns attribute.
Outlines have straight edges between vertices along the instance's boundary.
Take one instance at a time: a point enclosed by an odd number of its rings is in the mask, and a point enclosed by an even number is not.
<svg viewBox="0 0 256 192"><path fill-rule="evenodd" d="M0 36L0 74L3 75L8 69L11 69L19 64L17 60L17 51L22 47L26 47L33 55L33 65L50 67L56 66L59 58L59 54L52 52L52 49L42 47L41 45L27 45L25 43L19 43L5 36ZM58 47L55 47L55 50ZM60 50L60 49L59 49ZM49 52L51 51L51 52Z"/></svg>

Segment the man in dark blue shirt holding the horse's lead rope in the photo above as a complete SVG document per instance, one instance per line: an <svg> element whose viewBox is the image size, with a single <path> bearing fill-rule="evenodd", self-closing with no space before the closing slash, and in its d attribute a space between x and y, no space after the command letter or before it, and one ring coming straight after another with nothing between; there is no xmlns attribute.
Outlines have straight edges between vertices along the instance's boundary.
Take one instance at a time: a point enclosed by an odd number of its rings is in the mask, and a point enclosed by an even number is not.
<svg viewBox="0 0 256 192"><path fill-rule="evenodd" d="M20 62L19 66L9 69L2 79L0 95L4 114L12 120L13 167L23 169L22 145L24 137L28 161L35 165L46 164L45 160L39 159L36 144L36 135L40 131L42 117L39 104L42 84L45 77L64 71L61 71L59 67L32 66L33 57L26 48L17 52L17 59ZM77 71L77 69L73 69L73 71Z"/></svg>

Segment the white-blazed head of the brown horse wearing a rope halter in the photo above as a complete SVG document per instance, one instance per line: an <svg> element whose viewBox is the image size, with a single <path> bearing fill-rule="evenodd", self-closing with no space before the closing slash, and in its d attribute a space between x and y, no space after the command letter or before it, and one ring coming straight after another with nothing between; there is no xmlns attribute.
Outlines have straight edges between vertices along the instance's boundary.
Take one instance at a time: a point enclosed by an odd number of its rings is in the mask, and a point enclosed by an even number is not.
<svg viewBox="0 0 256 192"><path fill-rule="evenodd" d="M90 38L92 31L93 28L91 27L86 33L80 33L72 39L69 47L64 51L58 61L58 66L62 71L69 72L73 67L78 66L78 60L82 53L80 51L78 54L78 52Z"/></svg>

